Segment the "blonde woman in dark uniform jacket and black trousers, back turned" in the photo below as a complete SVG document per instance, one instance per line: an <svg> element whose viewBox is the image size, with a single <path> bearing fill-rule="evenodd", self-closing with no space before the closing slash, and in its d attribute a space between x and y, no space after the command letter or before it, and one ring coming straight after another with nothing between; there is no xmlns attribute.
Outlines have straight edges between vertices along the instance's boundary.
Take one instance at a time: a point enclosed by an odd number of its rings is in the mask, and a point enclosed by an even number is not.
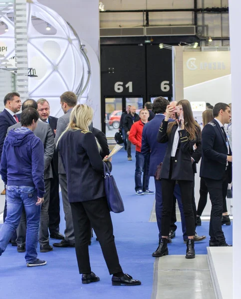
<svg viewBox="0 0 241 299"><path fill-rule="evenodd" d="M141 282L122 272L119 264L110 210L104 189L104 166L101 147L89 132L93 109L77 105L71 112L69 125L60 135L57 149L66 171L68 199L71 206L75 251L82 283L98 282L90 267L88 243L91 227L99 239L113 286L135 286ZM107 162L111 168L111 163Z"/></svg>

